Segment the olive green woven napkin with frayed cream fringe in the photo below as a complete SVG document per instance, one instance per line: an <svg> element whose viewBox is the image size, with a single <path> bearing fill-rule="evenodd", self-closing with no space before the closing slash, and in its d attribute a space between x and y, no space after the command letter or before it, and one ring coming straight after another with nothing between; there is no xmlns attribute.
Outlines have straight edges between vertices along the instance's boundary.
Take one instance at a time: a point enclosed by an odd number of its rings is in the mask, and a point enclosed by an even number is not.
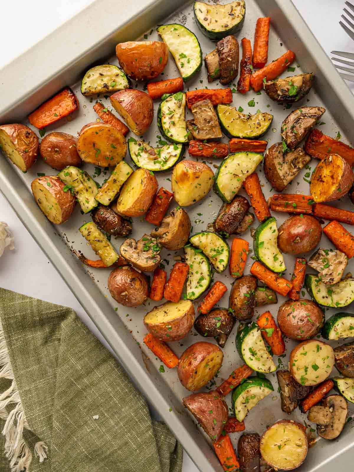
<svg viewBox="0 0 354 472"><path fill-rule="evenodd" d="M182 447L76 313L0 288L0 471L181 472Z"/></svg>

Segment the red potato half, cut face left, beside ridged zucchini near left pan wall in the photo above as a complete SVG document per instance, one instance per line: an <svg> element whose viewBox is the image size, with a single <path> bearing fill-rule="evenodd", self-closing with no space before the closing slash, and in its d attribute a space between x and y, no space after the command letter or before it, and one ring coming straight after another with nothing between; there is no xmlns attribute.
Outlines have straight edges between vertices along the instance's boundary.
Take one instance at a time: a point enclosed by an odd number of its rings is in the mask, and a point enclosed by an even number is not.
<svg viewBox="0 0 354 472"><path fill-rule="evenodd" d="M75 208L76 198L70 191L64 191L65 186L55 176L39 177L31 184L34 200L55 225L65 223Z"/></svg>

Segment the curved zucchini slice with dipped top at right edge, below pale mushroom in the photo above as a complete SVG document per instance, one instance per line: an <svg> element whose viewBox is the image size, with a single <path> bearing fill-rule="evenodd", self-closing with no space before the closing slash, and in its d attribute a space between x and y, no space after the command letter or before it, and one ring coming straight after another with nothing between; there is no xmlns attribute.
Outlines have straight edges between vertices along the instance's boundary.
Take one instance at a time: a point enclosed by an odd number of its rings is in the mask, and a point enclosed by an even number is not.
<svg viewBox="0 0 354 472"><path fill-rule="evenodd" d="M346 278L334 285L326 285L317 275L307 274L305 286L312 299L323 306L341 308L354 301L354 278Z"/></svg>

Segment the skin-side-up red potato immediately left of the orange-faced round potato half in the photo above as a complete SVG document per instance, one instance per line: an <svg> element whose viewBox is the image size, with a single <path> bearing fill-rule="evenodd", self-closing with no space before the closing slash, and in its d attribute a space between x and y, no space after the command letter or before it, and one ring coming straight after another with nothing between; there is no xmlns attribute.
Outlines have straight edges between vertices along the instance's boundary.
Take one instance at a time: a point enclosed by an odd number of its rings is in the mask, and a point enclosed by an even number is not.
<svg viewBox="0 0 354 472"><path fill-rule="evenodd" d="M54 131L44 136L39 152L46 164L62 170L67 166L80 167L82 159L76 149L76 138L67 133Z"/></svg>

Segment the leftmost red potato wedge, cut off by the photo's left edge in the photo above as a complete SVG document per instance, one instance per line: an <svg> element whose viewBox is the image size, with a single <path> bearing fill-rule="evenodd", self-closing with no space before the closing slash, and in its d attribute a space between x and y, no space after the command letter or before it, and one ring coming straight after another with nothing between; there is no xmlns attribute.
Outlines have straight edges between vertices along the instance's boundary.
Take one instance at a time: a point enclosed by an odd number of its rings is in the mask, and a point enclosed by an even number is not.
<svg viewBox="0 0 354 472"><path fill-rule="evenodd" d="M38 145L38 137L28 126L0 126L0 150L23 172L37 160Z"/></svg>

